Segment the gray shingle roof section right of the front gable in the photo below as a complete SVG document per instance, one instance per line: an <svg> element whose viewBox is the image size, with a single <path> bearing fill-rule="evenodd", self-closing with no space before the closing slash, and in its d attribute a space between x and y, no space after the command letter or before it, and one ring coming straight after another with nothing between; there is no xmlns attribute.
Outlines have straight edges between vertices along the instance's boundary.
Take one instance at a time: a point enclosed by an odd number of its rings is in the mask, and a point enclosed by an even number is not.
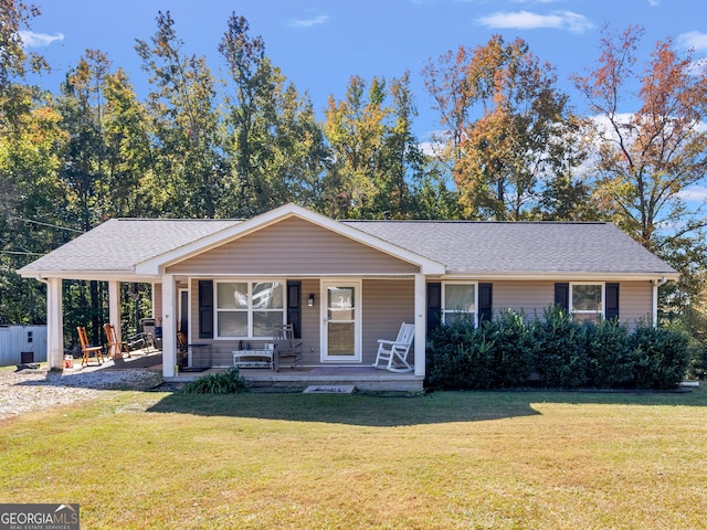
<svg viewBox="0 0 707 530"><path fill-rule="evenodd" d="M610 223L347 221L346 224L442 262L447 273L675 273Z"/></svg>

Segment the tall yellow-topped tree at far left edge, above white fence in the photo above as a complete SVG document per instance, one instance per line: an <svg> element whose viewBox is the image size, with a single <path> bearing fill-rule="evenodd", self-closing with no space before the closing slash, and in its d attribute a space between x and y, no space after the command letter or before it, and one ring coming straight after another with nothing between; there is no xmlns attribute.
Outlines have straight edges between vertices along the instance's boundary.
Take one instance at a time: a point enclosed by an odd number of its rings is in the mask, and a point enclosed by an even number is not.
<svg viewBox="0 0 707 530"><path fill-rule="evenodd" d="M39 14L31 3L0 0L0 324L45 321L44 286L15 269L67 241L53 227L66 221L57 179L66 135L51 96L27 82L46 70L21 33Z"/></svg>

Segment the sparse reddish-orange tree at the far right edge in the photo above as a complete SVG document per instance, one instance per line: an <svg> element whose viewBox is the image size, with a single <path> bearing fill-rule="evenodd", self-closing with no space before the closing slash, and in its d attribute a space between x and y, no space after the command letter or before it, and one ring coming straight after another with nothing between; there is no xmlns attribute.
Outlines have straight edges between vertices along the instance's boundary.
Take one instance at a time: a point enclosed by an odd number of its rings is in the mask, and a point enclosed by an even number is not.
<svg viewBox="0 0 707 530"><path fill-rule="evenodd" d="M600 210L680 271L680 296L672 299L685 300L683 294L701 290L707 266L707 220L687 193L705 183L707 170L707 72L671 39L636 71L642 36L637 26L621 34L606 28L597 67L574 82L594 115ZM636 107L627 106L632 99Z"/></svg>

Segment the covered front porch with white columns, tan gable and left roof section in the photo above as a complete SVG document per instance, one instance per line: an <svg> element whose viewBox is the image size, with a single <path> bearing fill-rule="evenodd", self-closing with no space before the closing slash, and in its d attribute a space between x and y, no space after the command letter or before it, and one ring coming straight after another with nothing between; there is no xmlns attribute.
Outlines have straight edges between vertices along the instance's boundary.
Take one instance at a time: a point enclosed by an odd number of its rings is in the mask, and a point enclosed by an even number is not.
<svg viewBox="0 0 707 530"><path fill-rule="evenodd" d="M105 241L123 251L91 263L74 252ZM48 285L50 367L61 367L64 333L74 332L63 325L63 279L106 282L109 324L118 335L120 284L149 283L166 381L194 377L182 368L194 368L197 354L208 357L198 368L228 369L244 351L272 350L275 327L292 325L304 370L244 369L245 378L293 384L358 379L391 386L410 381L420 390L428 282L444 272L436 261L285 205L247 221L110 220L21 274ZM407 372L373 369L378 341L394 340L403 322L414 329Z"/></svg>

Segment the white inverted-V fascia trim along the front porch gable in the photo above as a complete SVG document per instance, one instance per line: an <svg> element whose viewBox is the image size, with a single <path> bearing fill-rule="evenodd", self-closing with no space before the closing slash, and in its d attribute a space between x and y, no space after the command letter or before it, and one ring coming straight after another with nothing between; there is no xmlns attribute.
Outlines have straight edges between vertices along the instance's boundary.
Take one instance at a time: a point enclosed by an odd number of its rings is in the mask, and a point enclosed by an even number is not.
<svg viewBox="0 0 707 530"><path fill-rule="evenodd" d="M138 263L135 267L135 271L138 274L160 275L169 265L173 265L183 259L201 254L239 237L243 237L244 235L247 235L252 232L256 232L278 221L283 221L287 218L293 216L309 221L316 225L328 229L331 232L344 235L346 237L350 237L351 240L377 248L402 261L419 265L421 273L423 274L444 274L445 272L444 265L439 262L434 262L426 257L420 256L419 254L405 251L404 248L341 224L331 218L327 218L326 215L321 215L319 213L313 212L312 210L307 210L292 203L276 208L275 210L271 210L270 212L263 213L247 221L243 221L242 223L235 224L234 226L224 229L220 232L197 240L188 245L176 248L160 256L154 257L143 263Z"/></svg>

